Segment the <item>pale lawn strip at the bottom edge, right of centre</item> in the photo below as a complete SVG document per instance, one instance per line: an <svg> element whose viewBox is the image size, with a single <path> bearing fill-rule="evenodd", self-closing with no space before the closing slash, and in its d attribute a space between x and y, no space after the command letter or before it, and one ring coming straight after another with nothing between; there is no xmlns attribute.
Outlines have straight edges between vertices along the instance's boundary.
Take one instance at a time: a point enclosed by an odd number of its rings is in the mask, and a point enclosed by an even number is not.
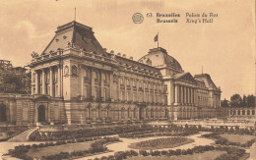
<svg viewBox="0 0 256 160"><path fill-rule="evenodd" d="M224 151L206 151L204 153L194 153L192 155L182 155L182 156L161 156L161 157L131 157L127 160L214 160L215 158L219 157L221 154L224 154Z"/></svg>

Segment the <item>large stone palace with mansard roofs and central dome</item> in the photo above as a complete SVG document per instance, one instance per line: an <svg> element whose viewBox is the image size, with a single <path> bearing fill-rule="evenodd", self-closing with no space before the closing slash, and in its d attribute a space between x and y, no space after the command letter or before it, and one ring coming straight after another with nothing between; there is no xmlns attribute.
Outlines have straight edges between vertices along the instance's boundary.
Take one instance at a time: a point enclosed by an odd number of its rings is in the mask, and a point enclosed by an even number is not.
<svg viewBox="0 0 256 160"><path fill-rule="evenodd" d="M161 47L138 61L107 52L92 27L57 27L32 53L32 94L1 94L2 123L90 124L221 116L221 89L192 76Z"/></svg>

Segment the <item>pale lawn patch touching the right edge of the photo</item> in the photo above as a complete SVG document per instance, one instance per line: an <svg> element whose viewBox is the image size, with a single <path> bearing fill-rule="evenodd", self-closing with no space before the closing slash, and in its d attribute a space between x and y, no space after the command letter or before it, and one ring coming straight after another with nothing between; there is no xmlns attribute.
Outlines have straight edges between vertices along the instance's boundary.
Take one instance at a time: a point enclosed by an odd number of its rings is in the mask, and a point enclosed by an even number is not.
<svg viewBox="0 0 256 160"><path fill-rule="evenodd" d="M240 134L221 134L227 141L230 142L240 142L241 144L246 143L249 140L255 138L254 135L240 135Z"/></svg>

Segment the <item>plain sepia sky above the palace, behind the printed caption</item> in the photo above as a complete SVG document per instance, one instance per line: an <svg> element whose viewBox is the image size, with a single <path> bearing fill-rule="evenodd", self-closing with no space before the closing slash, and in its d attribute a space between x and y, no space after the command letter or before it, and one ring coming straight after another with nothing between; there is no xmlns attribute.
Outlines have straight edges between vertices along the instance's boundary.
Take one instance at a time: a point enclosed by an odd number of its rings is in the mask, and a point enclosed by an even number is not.
<svg viewBox="0 0 256 160"><path fill-rule="evenodd" d="M74 21L75 7L76 21L93 27L107 51L138 60L157 47L159 32L160 47L191 75L201 74L203 66L203 73L221 86L222 99L255 93L254 0L0 0L0 59L15 67L28 65L32 51L41 53L56 27ZM142 24L133 23L135 13L144 16ZM157 13L180 18L158 24ZM190 24L186 13L218 17L211 24Z"/></svg>

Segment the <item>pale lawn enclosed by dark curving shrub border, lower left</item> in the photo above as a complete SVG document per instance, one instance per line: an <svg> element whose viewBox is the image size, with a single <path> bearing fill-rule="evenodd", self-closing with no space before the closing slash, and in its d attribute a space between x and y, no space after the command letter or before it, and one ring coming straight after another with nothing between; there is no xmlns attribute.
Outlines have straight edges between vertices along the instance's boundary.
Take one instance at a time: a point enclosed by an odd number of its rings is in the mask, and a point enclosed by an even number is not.
<svg viewBox="0 0 256 160"><path fill-rule="evenodd" d="M40 158L42 156L48 156L57 154L60 152L73 152L79 150L88 150L91 147L91 144L95 141L85 141L77 143L68 143L63 145L47 146L41 148L32 148L27 153L28 156L33 158Z"/></svg>

